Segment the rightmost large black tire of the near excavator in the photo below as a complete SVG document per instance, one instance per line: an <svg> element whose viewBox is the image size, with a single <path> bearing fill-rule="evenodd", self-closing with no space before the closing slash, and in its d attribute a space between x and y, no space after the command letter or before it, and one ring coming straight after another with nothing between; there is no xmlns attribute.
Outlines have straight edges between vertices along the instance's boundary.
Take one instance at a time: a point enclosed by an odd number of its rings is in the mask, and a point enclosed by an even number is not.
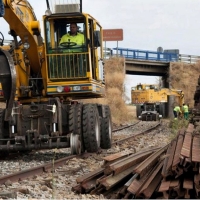
<svg viewBox="0 0 200 200"><path fill-rule="evenodd" d="M112 119L110 108L103 105L105 109L105 116L101 118L101 144L102 149L109 149L112 146Z"/></svg>

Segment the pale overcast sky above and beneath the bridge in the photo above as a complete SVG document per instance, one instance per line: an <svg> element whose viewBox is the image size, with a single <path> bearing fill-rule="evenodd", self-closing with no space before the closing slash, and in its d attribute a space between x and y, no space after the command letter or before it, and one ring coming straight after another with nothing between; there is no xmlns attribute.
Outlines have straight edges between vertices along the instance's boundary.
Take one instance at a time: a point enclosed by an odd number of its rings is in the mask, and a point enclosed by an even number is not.
<svg viewBox="0 0 200 200"><path fill-rule="evenodd" d="M51 3L51 0L49 1ZM46 0L29 0L29 2L42 24ZM157 51L158 47L162 47L164 50L179 49L180 54L200 55L200 0L82 0L82 2L83 12L96 18L103 29L123 29L123 41L106 42L108 48L118 46ZM5 35L5 39L9 39L6 37L8 30L8 25L1 18L0 31ZM127 75L125 88L130 96L131 86L139 82L156 81L156 77Z"/></svg>

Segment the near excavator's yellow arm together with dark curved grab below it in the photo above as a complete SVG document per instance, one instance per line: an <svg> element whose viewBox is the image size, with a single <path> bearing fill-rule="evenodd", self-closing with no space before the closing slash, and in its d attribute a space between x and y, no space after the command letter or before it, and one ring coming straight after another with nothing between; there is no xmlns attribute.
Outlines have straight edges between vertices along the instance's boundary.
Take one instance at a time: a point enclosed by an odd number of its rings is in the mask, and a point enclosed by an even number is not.
<svg viewBox="0 0 200 200"><path fill-rule="evenodd" d="M6 100L7 121L12 115L16 94L30 87L33 74L41 74L44 65L44 44L39 21L27 0L0 0L0 17L7 21L10 35L13 36L10 47L5 48L3 39L0 42L3 46L0 48L0 82ZM16 73L19 74L18 78Z"/></svg>

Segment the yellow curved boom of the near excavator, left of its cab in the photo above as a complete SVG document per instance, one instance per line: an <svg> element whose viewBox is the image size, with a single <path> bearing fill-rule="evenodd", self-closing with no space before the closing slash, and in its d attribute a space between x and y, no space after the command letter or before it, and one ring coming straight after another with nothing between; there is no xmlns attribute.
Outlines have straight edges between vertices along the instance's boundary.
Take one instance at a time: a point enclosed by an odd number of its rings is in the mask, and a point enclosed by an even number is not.
<svg viewBox="0 0 200 200"><path fill-rule="evenodd" d="M27 49L27 56L32 70L38 73L41 70L41 60L43 58L43 41L40 24L33 8L27 0L3 0L3 4L5 7L3 17L10 26L10 34L14 39L19 36L22 43L28 43L31 46Z"/></svg>

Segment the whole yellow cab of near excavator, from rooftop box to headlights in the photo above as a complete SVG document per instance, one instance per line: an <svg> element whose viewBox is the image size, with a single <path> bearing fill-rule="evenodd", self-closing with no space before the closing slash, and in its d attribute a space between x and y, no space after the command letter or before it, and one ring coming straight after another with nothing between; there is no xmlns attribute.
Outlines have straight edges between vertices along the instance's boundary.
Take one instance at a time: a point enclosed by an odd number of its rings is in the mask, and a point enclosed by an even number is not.
<svg viewBox="0 0 200 200"><path fill-rule="evenodd" d="M54 9L53 9L54 8ZM47 94L72 98L103 97L105 93L102 27L82 13L79 4L55 4L43 17ZM83 40L61 41L76 24ZM78 84L77 84L78 82ZM59 87L59 92L57 88Z"/></svg>

